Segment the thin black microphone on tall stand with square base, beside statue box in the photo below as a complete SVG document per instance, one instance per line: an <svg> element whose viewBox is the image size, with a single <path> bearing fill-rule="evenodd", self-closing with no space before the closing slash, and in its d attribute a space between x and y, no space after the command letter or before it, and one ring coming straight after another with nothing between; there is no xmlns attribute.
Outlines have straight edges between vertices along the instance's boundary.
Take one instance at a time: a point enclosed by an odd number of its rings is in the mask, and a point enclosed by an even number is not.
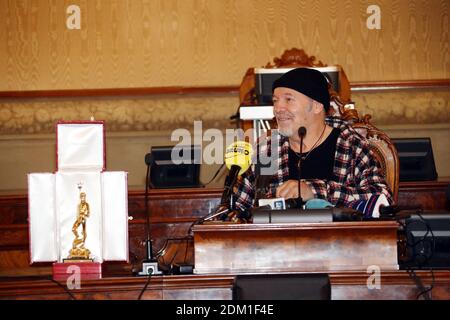
<svg viewBox="0 0 450 320"><path fill-rule="evenodd" d="M147 218L147 240L145 241L147 255L146 259L142 262L142 271L139 272L139 275L142 276L162 274L162 272L159 271L158 268L158 261L153 257L152 238L150 235L150 210L148 207L148 191L149 191L148 189L150 184L150 166L153 163L153 158L151 154L147 154L145 156L145 162L147 163L147 174L145 177L144 208L145 208L145 215Z"/></svg>

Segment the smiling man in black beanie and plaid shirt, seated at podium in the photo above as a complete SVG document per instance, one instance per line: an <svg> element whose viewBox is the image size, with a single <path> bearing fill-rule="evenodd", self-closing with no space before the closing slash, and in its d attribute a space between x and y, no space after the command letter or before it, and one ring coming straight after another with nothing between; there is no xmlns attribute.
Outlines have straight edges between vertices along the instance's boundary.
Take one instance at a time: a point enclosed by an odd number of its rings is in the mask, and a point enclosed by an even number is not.
<svg viewBox="0 0 450 320"><path fill-rule="evenodd" d="M298 197L301 159L301 196L307 204L322 199L331 205L352 207L382 194L392 203L392 192L368 141L342 119L328 116L328 83L320 71L293 69L273 83L272 93L278 135L261 144L259 150L270 156L276 169L264 197ZM302 148L300 127L306 129ZM235 190L239 209L257 206L255 188L255 174L248 170Z"/></svg>

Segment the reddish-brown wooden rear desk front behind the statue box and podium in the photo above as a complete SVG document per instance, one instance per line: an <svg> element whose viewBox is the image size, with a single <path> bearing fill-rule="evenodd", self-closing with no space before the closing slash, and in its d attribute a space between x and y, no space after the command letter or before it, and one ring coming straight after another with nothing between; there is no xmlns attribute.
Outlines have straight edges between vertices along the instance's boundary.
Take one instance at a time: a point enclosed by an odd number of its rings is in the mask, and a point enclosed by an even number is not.
<svg viewBox="0 0 450 320"><path fill-rule="evenodd" d="M428 210L445 210L447 206L445 191L449 183L450 178L441 178L435 182L400 183L399 204L402 206L422 205ZM154 252L161 250L169 238L185 238L191 224L213 210L218 205L221 195L221 188L150 190L150 228L155 240ZM36 274L37 272L36 268L29 268L27 201L26 191L22 194L0 196L0 275L14 272ZM137 270L145 257L144 192L130 191L128 206L129 215L133 217L133 220L129 222L131 265L123 267ZM184 253L185 250L179 250L180 259L184 259ZM186 255L187 262L193 263L192 253L193 250L189 249Z"/></svg>

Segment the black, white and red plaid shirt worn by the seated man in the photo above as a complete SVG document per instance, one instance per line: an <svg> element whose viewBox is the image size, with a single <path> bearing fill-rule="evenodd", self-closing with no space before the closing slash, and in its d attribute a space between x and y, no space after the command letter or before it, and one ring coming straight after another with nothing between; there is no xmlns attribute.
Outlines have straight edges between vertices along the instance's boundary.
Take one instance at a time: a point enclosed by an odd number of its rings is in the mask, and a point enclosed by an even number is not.
<svg viewBox="0 0 450 320"><path fill-rule="evenodd" d="M334 157L334 178L305 180L314 197L325 199L335 206L351 207L355 201L368 200L372 195L383 193L392 203L392 192L384 180L380 164L369 148L369 142L339 118L327 117L325 123L340 130ZM278 157L273 157L272 161L277 161L277 169L262 192L265 198L276 197L276 189L289 179L289 140L282 136L276 140ZM271 156L270 138L260 146L259 153ZM255 205L255 182L252 169L239 177L234 188L236 207L245 210Z"/></svg>

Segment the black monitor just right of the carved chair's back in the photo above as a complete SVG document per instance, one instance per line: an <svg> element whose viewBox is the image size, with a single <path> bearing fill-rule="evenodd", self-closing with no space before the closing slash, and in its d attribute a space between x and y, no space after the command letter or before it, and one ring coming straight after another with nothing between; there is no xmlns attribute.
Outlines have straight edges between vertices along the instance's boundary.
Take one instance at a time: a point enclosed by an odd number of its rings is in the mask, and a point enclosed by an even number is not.
<svg viewBox="0 0 450 320"><path fill-rule="evenodd" d="M392 142L400 161L400 181L437 179L430 138L396 138Z"/></svg>

